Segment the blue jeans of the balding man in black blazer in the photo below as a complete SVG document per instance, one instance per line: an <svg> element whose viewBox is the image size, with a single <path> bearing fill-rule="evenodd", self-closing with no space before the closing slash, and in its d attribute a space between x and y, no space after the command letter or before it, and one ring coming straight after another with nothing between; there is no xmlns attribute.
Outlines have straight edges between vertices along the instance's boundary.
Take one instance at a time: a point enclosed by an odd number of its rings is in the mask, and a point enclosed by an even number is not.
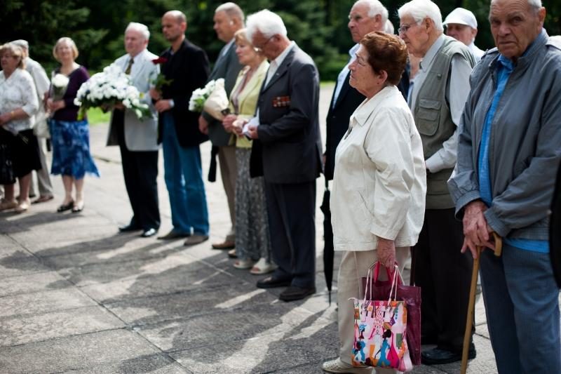
<svg viewBox="0 0 561 374"><path fill-rule="evenodd" d="M163 114L163 170L173 231L208 235L208 208L198 146L181 147L173 115Z"/></svg>

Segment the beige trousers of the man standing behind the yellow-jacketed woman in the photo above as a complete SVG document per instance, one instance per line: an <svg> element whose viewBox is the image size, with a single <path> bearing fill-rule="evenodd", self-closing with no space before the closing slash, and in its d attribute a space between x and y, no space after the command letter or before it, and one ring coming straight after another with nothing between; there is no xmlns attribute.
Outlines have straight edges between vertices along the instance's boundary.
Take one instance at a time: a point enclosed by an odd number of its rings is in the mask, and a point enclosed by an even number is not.
<svg viewBox="0 0 561 374"><path fill-rule="evenodd" d="M230 221L232 222L226 240L236 241L236 177L238 176L236 167L236 146L227 145L219 147L218 162L220 165L222 185L224 185L224 192L226 192L226 197L228 199Z"/></svg>

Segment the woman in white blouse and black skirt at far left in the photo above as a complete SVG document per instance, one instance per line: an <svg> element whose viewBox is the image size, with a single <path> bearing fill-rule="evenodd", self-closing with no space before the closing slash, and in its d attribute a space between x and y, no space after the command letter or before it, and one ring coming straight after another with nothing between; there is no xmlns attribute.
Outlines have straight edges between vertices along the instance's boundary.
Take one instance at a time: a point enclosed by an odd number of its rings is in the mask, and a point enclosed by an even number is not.
<svg viewBox="0 0 561 374"><path fill-rule="evenodd" d="M23 213L29 209L31 171L41 170L39 145L33 134L33 116L39 109L39 100L33 78L25 71L23 52L15 44L0 46L0 168L4 173L4 199L0 211L15 209ZM12 178L6 178L6 175ZM15 200L13 178L18 178L20 196Z"/></svg>

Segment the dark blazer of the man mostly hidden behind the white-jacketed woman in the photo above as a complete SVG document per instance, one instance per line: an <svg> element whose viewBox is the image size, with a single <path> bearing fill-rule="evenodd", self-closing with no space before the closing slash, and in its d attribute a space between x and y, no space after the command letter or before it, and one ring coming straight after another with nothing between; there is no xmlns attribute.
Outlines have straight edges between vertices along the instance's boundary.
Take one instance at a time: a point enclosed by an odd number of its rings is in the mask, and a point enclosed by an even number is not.
<svg viewBox="0 0 561 374"><path fill-rule="evenodd" d="M365 99L362 93L356 91L356 89L352 88L349 84L350 75L350 72L346 74L335 105L333 105L334 97L331 97L327 119L325 120L325 166L323 173L327 180L333 179L335 151L346 131L349 130L351 114L353 114L358 105ZM337 86L335 86L335 88L337 88ZM407 91L409 90L409 73L407 69L401 76L398 89L405 100L407 100ZM335 91L333 91L333 93L335 93Z"/></svg>

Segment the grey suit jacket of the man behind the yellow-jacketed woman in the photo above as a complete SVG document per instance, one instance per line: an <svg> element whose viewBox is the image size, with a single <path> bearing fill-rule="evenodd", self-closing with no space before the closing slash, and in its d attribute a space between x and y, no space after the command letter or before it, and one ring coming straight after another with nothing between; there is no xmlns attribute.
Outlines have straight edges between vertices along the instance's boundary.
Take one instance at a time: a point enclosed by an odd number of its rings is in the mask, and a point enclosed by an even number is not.
<svg viewBox="0 0 561 374"><path fill-rule="evenodd" d="M242 66L236 55L236 45L234 42L226 44L222 47L218 55L215 66L212 68L212 72L210 72L210 76L208 77L208 81L224 78L224 90L228 97L230 97L230 92L236 84L236 79L238 78L241 68ZM208 121L208 138L210 138L212 145L217 147L228 145L231 133L227 133L224 130L222 122L214 119L206 112L203 112L203 117Z"/></svg>

